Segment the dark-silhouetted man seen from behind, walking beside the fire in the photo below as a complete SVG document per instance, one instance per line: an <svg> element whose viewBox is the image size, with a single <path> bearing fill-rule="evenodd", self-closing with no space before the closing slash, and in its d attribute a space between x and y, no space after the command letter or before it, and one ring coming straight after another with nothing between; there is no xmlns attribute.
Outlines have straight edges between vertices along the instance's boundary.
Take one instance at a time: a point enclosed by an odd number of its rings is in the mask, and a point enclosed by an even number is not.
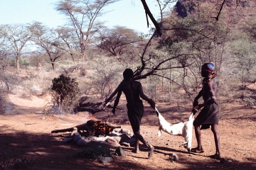
<svg viewBox="0 0 256 170"><path fill-rule="evenodd" d="M140 134L140 124L142 121L142 116L144 114L144 106L142 103L142 99L147 101L152 108L155 108L155 103L153 100L149 99L142 90L142 84L139 81L134 81L132 69L125 69L123 72L124 81L117 87L117 98L114 101L114 106L112 109L112 113L115 113L115 108L119 103L119 98L124 92L124 95L127 99L127 110L128 110L128 118L129 122L132 125L132 130L136 137L136 145L135 145L135 153L139 153L139 141L141 141L148 149L149 149L149 158L152 157L154 147L149 145L144 137Z"/></svg>

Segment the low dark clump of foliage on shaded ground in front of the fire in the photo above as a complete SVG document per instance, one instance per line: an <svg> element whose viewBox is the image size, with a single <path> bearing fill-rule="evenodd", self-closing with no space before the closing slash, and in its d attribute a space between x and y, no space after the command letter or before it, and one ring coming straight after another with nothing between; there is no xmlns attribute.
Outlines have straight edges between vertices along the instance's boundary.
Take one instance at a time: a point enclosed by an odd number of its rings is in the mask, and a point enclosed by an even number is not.
<svg viewBox="0 0 256 170"><path fill-rule="evenodd" d="M78 151L74 157L80 158L88 158L88 159L102 159L103 157L110 157L114 154L110 148L102 146L102 145L95 145L90 147L85 147L84 149Z"/></svg>

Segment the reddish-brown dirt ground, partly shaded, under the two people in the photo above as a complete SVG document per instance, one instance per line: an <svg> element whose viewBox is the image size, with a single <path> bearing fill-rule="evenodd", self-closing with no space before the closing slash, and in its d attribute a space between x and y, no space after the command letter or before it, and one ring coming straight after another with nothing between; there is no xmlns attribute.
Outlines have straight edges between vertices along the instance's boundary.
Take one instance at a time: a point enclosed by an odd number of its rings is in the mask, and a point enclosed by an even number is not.
<svg viewBox="0 0 256 170"><path fill-rule="evenodd" d="M21 98L11 95L14 108L0 115L0 169L256 169L256 109L249 106L221 103L220 151L227 160L210 159L215 153L213 133L202 130L204 153L188 154L181 147L183 137L168 135L165 132L157 136L158 122L154 111L147 103L142 118L142 135L154 145L154 155L147 159L147 152L135 154L132 147L123 147L127 157L112 156L114 161L102 164L98 159L73 157L81 147L72 143L63 143L66 134L51 134L51 130L72 128L87 121L85 116L43 115L43 106L50 98ZM156 103L157 108L169 123L185 121L191 106L181 109L166 103ZM129 125L125 105L119 104L116 115L110 115L108 121L113 125L132 130ZM108 111L110 112L110 111ZM96 113L97 119L107 121L107 111ZM193 147L196 138L193 133ZM178 161L171 162L169 155L174 153ZM26 162L16 164L17 160Z"/></svg>

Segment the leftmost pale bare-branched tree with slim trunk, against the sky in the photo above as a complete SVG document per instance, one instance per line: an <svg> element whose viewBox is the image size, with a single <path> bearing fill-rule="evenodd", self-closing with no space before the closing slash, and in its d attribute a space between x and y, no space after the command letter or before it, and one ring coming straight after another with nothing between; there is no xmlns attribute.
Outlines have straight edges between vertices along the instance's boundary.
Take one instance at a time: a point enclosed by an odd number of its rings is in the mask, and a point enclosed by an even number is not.
<svg viewBox="0 0 256 170"><path fill-rule="evenodd" d="M31 40L31 26L30 25L6 25L4 26L4 31L6 33L6 40L11 51L11 54L16 58L16 67L19 69L19 60L23 53L27 52L27 42Z"/></svg>

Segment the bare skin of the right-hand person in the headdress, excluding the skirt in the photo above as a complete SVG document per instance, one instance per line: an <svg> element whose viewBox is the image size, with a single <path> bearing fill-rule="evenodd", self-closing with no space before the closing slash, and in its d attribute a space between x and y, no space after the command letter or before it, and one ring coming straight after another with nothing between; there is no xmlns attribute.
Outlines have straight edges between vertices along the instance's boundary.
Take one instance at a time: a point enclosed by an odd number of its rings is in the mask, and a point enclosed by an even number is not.
<svg viewBox="0 0 256 170"><path fill-rule="evenodd" d="M205 77L205 79L208 79L208 77L210 77L211 75L212 75L212 72L210 72L209 70L207 71L205 67L202 67L202 69L201 69L202 77ZM198 93L198 96L196 96L196 98L193 102L193 109L192 109L193 113L196 113L200 108L202 108L204 106L208 106L215 102L215 90L216 90L216 86L215 86L214 81L209 81L203 86L203 89ZM206 101L203 104L198 104L198 99L201 98L201 96L203 96L203 99L205 101L208 99L210 99L210 100ZM215 148L216 148L215 156L220 158L220 136L218 133L218 125L212 124L212 125L210 125L210 127L211 127L211 131L213 132L213 135L214 135ZM203 147L201 144L200 126L194 125L194 128L195 128L196 140L197 140L196 149L198 151L203 151Z"/></svg>

